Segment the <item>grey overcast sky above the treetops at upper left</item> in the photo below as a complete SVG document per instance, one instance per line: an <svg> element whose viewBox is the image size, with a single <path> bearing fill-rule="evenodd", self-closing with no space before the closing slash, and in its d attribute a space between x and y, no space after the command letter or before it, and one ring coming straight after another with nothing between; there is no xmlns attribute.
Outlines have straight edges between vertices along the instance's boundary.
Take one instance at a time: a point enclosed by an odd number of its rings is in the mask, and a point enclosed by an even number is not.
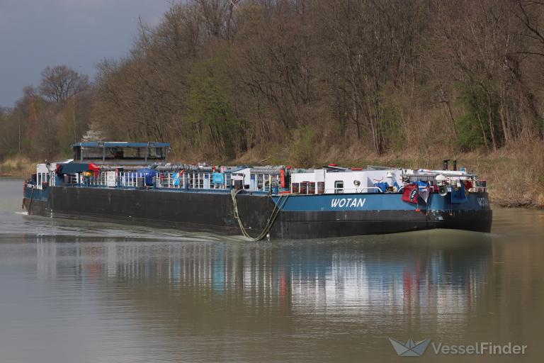
<svg viewBox="0 0 544 363"><path fill-rule="evenodd" d="M126 55L138 17L157 24L167 0L0 0L0 106L13 106L42 69L95 74L96 62Z"/></svg>

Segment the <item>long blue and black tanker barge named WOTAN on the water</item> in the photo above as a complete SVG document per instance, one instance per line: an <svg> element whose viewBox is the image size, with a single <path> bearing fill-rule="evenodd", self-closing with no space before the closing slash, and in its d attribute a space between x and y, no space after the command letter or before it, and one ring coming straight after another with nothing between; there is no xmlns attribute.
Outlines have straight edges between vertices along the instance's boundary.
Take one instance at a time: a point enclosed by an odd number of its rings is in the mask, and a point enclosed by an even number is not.
<svg viewBox="0 0 544 363"><path fill-rule="evenodd" d="M485 181L466 169L237 167L168 162L168 143L72 145L38 164L28 214L177 228L251 240L335 238L430 228L489 232Z"/></svg>

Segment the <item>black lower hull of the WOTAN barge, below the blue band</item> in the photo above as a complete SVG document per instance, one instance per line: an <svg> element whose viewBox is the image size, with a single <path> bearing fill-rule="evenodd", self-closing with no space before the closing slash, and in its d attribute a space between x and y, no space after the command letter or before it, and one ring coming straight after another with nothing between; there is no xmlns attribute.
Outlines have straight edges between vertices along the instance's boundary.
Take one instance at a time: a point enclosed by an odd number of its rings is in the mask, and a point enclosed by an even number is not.
<svg viewBox="0 0 544 363"><path fill-rule="evenodd" d="M187 231L241 235L229 193L52 186L47 199L25 199L29 214ZM239 194L239 216L247 232L265 228L275 203L262 194ZM273 239L334 238L453 228L489 232L492 211L282 211L270 230Z"/></svg>

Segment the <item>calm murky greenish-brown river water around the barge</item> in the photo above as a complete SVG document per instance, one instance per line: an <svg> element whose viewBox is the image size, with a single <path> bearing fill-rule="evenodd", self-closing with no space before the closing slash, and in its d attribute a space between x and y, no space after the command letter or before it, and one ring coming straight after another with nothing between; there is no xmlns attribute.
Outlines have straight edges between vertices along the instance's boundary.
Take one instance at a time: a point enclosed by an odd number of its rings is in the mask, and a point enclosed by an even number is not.
<svg viewBox="0 0 544 363"><path fill-rule="evenodd" d="M21 213L0 179L0 362L541 362L544 212L492 233L244 242ZM387 337L528 345L397 357Z"/></svg>

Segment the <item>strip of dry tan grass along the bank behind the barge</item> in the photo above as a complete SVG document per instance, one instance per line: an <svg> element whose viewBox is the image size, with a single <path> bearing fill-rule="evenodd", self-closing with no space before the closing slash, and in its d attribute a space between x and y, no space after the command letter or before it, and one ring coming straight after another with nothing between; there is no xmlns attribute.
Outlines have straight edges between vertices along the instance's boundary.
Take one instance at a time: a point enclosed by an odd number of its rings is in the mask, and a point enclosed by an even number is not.
<svg viewBox="0 0 544 363"><path fill-rule="evenodd" d="M334 158L320 157L310 164L297 164L285 155L243 155L237 160L214 160L212 164L283 164L293 167L321 167L334 162L344 167L366 167L382 165L389 167L441 169L443 158L429 155L404 155L402 153L378 157L335 155ZM538 145L504 148L490 153L458 153L447 155L457 160L458 167L473 170L480 179L487 181L489 198L494 205L507 208L544 208L544 143ZM196 159L205 161L204 159ZM191 163L196 160L174 160ZM35 164L26 158L14 157L0 163L0 177L27 179L35 173Z"/></svg>

